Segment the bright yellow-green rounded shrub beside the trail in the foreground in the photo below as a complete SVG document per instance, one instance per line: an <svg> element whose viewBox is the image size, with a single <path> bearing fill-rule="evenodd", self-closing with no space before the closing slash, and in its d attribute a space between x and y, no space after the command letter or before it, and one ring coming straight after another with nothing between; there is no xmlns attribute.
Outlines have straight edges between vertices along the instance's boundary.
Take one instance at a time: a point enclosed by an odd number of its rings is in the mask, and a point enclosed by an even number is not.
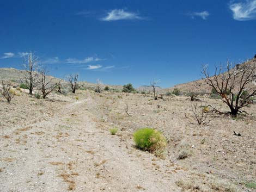
<svg viewBox="0 0 256 192"><path fill-rule="evenodd" d="M166 147L166 138L161 132L152 128L142 128L133 134L136 147L152 153L159 153Z"/></svg>

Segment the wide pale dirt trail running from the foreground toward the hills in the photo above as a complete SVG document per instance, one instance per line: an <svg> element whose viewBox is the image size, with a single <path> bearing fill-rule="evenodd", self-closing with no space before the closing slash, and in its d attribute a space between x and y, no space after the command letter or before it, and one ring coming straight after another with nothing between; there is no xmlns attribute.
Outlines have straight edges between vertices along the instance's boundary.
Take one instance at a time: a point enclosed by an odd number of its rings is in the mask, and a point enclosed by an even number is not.
<svg viewBox="0 0 256 192"><path fill-rule="evenodd" d="M0 191L179 191L183 171L97 127L87 106L90 98L2 130L11 138L0 141Z"/></svg>

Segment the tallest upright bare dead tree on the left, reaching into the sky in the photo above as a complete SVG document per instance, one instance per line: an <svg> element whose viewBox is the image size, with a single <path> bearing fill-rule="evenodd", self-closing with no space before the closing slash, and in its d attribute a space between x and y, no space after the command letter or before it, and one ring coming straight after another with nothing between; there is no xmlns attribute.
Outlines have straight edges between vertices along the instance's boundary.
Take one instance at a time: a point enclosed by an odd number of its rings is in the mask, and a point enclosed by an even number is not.
<svg viewBox="0 0 256 192"><path fill-rule="evenodd" d="M22 81L28 87L29 94L32 95L33 89L38 85L38 58L33 53L29 53L24 57L24 60L23 69L26 72Z"/></svg>

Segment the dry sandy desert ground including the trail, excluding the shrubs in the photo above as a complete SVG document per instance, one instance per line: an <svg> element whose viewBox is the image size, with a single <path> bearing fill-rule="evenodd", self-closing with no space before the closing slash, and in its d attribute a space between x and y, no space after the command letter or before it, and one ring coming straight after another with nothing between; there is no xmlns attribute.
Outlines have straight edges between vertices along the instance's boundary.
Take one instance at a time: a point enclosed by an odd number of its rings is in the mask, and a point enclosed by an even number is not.
<svg viewBox="0 0 256 192"><path fill-rule="evenodd" d="M256 108L247 111L240 119L211 114L199 126L186 97L78 91L37 100L22 93L0 101L0 191L253 191L245 184L255 182ZM166 136L164 158L133 146L142 127ZM188 157L179 160L182 150Z"/></svg>

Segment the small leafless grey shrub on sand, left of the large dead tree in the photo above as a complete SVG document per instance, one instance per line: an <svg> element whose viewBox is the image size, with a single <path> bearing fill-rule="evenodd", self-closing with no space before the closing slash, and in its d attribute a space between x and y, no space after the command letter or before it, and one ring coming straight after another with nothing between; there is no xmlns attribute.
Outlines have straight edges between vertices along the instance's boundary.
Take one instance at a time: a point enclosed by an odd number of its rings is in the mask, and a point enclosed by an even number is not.
<svg viewBox="0 0 256 192"><path fill-rule="evenodd" d="M202 103L200 106L198 106L198 103L190 103L191 110L192 110L192 118L197 121L198 125L201 125L202 123L209 123L210 121L206 122L206 119L208 117L208 110L205 108L202 108Z"/></svg>

